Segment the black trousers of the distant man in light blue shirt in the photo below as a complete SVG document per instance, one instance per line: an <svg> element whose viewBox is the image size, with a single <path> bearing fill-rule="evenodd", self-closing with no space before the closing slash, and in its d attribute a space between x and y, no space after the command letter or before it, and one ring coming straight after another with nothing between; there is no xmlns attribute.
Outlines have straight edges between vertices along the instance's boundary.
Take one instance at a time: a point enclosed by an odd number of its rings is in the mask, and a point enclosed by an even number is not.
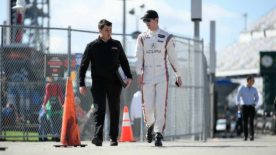
<svg viewBox="0 0 276 155"><path fill-rule="evenodd" d="M255 117L255 107L252 105L242 106L242 116L244 120L244 136L248 137L248 118L249 119L249 130L250 136L254 136L254 117Z"/></svg>

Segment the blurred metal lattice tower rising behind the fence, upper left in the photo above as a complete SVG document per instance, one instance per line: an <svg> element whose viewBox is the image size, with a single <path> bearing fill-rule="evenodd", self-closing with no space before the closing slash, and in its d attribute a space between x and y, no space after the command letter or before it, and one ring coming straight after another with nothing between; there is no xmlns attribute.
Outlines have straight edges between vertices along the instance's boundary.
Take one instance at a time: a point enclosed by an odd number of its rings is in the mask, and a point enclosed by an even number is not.
<svg viewBox="0 0 276 155"><path fill-rule="evenodd" d="M35 27L49 27L49 0L25 0L29 6L24 14L17 13L16 9L11 7L16 5L16 0L7 0L8 4L8 20L7 25L28 25ZM47 29L30 29L10 30L10 43L12 44L28 44L29 47L35 47L37 51L49 53L50 33ZM27 39L16 38L17 33ZM8 36L7 36L8 37Z"/></svg>

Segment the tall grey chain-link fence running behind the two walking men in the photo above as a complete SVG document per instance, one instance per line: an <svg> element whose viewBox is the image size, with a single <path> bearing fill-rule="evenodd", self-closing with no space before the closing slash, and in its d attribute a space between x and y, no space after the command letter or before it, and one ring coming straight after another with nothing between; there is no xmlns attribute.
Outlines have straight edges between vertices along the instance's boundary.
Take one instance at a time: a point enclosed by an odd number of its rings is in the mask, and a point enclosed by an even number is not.
<svg viewBox="0 0 276 155"><path fill-rule="evenodd" d="M46 140L60 137L62 115L54 109L43 111L47 105L45 96L51 93L64 102L66 77L73 79L76 112L81 140L91 140L94 135L93 98L88 91L86 96L79 93L78 69L79 55L83 54L86 44L99 36L98 32L68 28L41 28L29 26L1 27L1 127L0 138L25 140ZM140 111L140 118L132 121L133 136L136 140L145 139L146 128L142 122L141 102L133 103L133 95L138 91L135 71L136 38L127 34L112 34L119 40L129 60L133 80L130 87L122 90L119 136L121 133L123 107L131 106ZM208 128L210 104L207 64L203 54L203 40L175 36L176 50L181 65L183 86L175 86L173 69L169 68L170 83L164 137L181 135L202 135ZM45 55L63 56L65 69L63 77L45 77ZM69 63L68 63L69 62ZM170 65L168 65L170 66ZM90 66L86 73L87 90L91 88ZM46 90L46 87L48 90ZM51 100L53 101L53 100ZM49 100L49 102L51 102ZM138 106L137 106L138 105ZM138 107L139 109L137 110ZM131 111L130 111L131 112ZM130 113L134 115L134 113ZM109 140L109 112L106 108L104 139ZM210 127L210 125L209 125ZM50 137L50 138L49 138Z"/></svg>

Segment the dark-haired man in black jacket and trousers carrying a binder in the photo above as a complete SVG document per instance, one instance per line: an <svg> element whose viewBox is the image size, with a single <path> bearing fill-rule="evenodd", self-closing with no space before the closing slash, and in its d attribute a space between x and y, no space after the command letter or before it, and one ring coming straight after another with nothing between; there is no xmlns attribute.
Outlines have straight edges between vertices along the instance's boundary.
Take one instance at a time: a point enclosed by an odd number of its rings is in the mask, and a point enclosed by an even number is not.
<svg viewBox="0 0 276 155"><path fill-rule="evenodd" d="M87 44L81 59L79 70L80 92L85 95L85 73L91 63L92 86L91 93L94 100L95 112L93 114L95 122L95 135L92 144L102 146L103 126L106 112L106 97L110 112L110 146L117 146L120 117L120 95L122 85L115 71L119 65L122 66L127 76L127 86L129 87L132 75L129 61L124 53L120 41L111 38L112 23L103 19L99 22L99 38Z"/></svg>

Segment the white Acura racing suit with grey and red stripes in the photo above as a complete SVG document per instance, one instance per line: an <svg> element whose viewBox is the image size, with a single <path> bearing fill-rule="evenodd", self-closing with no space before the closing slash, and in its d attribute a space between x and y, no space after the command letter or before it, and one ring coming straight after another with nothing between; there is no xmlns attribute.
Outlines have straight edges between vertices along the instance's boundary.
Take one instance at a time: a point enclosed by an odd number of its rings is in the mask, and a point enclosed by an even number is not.
<svg viewBox="0 0 276 155"><path fill-rule="evenodd" d="M137 75L142 75L142 110L144 121L150 127L156 108L154 132L163 133L166 127L169 75L168 60L177 77L181 76L172 34L158 28L157 32L147 30L139 34L135 46ZM156 104L155 104L156 101Z"/></svg>

